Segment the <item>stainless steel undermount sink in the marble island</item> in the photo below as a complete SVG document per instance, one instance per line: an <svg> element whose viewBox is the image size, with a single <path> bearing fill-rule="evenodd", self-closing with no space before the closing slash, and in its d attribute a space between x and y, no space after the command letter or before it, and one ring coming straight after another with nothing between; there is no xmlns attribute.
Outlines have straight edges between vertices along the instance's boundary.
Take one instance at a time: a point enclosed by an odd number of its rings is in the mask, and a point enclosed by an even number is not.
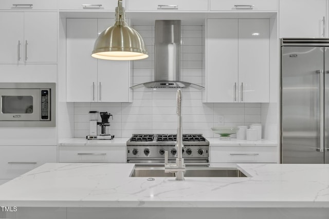
<svg viewBox="0 0 329 219"><path fill-rule="evenodd" d="M175 177L164 167L135 167L131 177ZM187 167L184 177L247 177L237 168Z"/></svg>

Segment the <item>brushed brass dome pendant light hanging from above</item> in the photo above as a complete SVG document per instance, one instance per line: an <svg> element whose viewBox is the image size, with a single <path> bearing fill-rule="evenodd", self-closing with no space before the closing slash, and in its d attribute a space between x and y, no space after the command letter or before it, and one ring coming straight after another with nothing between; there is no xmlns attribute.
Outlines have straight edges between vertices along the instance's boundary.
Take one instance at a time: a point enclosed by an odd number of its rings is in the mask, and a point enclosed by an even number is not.
<svg viewBox="0 0 329 219"><path fill-rule="evenodd" d="M115 9L115 23L96 39L92 56L108 60L137 60L149 57L140 34L125 22L122 0Z"/></svg>

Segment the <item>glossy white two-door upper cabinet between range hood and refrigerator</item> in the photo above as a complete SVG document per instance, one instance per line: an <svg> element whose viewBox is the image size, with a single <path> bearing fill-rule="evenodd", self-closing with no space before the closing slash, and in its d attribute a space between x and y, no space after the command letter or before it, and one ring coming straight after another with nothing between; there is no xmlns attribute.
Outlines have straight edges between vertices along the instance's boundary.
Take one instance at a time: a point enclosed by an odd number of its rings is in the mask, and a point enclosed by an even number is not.
<svg viewBox="0 0 329 219"><path fill-rule="evenodd" d="M269 102L269 19L208 19L208 103Z"/></svg>

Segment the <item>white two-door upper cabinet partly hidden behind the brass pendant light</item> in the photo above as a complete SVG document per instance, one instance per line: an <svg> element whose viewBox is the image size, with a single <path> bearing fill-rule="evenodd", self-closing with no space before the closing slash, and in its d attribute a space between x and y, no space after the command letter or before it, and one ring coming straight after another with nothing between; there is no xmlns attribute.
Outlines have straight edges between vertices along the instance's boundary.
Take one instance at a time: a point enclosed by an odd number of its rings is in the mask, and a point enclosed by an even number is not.
<svg viewBox="0 0 329 219"><path fill-rule="evenodd" d="M91 56L98 33L114 19L68 18L66 32L67 102L131 102L130 61Z"/></svg>

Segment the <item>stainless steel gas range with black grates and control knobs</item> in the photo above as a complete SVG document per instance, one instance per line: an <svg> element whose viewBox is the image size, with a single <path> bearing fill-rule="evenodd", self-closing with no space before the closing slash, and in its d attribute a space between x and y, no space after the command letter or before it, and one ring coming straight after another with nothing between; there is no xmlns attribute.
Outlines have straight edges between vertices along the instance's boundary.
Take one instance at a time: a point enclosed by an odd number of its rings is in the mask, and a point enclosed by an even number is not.
<svg viewBox="0 0 329 219"><path fill-rule="evenodd" d="M185 164L209 164L209 141L202 134L183 134L182 157ZM165 151L168 162L175 163L177 157L176 134L133 134L127 141L127 163L138 166L165 164Z"/></svg>

